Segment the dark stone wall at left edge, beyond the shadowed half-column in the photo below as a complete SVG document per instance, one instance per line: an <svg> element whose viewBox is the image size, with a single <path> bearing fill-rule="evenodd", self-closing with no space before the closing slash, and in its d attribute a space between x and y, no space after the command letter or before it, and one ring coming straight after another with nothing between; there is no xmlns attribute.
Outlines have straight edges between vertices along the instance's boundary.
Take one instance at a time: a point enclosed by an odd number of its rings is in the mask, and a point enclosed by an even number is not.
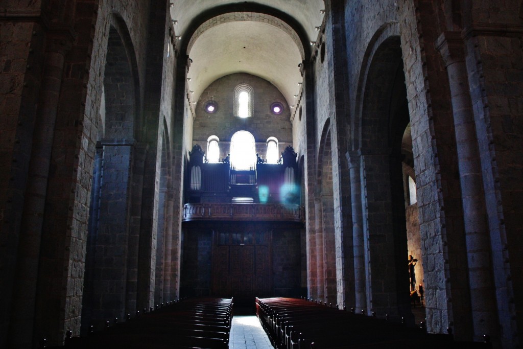
<svg viewBox="0 0 523 349"><path fill-rule="evenodd" d="M39 14L39 4L27 8ZM8 10L25 10L9 8ZM8 16L8 13L6 13ZM44 66L43 28L35 21L0 21L0 346L8 340L10 311L16 284L17 250L22 223L32 132ZM29 69L30 68L30 69ZM54 88L53 93L55 92ZM36 271L30 273L36 278ZM27 301L34 302L33 295ZM19 333L13 335L17 336Z"/></svg>

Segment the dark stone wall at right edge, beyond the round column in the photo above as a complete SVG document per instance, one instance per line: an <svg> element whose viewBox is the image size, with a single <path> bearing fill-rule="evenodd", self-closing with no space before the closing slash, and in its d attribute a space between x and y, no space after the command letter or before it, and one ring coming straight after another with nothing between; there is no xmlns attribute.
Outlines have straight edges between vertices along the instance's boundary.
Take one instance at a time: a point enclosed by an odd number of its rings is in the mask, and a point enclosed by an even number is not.
<svg viewBox="0 0 523 349"><path fill-rule="evenodd" d="M519 272L523 265L519 238L523 213L523 34L517 16L519 3L474 3L470 17L465 18L472 21L465 22L472 35L464 43L490 228L500 341L506 347L520 343L523 337L523 318L517 311L523 304Z"/></svg>

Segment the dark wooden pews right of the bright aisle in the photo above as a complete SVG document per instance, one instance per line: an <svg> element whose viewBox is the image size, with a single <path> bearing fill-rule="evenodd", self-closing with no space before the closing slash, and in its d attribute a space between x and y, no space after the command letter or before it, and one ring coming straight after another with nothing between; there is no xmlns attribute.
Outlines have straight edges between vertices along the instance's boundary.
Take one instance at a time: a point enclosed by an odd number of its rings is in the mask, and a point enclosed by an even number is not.
<svg viewBox="0 0 523 349"><path fill-rule="evenodd" d="M491 343L457 342L451 334L427 333L403 321L355 314L307 299L256 298L256 315L277 349L492 348Z"/></svg>

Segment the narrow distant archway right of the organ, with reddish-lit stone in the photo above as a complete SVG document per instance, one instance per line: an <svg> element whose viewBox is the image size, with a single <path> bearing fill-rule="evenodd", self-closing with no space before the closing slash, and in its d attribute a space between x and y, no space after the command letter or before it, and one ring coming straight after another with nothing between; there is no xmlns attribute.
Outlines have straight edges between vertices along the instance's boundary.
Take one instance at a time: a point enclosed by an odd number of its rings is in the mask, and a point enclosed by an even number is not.
<svg viewBox="0 0 523 349"><path fill-rule="evenodd" d="M323 127L317 156L316 256L318 297L337 303L336 243L334 232L334 190L330 119ZM323 289L320 289L323 288ZM321 295L323 294L323 297Z"/></svg>

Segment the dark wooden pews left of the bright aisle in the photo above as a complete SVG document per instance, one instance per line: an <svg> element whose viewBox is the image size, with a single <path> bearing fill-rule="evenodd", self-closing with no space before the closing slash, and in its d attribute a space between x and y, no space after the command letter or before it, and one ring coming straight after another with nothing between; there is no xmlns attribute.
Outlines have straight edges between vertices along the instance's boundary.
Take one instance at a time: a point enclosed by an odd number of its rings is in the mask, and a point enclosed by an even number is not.
<svg viewBox="0 0 523 349"><path fill-rule="evenodd" d="M226 349L232 321L232 299L189 298L107 324L103 331L70 337L66 348Z"/></svg>

